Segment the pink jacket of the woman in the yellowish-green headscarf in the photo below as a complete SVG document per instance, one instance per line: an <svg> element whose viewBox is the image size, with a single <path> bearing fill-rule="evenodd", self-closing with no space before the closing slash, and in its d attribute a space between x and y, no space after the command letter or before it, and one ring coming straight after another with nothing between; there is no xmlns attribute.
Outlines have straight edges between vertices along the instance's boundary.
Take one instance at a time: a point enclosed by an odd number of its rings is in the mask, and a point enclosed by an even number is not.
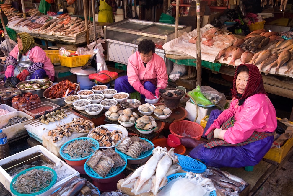
<svg viewBox="0 0 293 196"><path fill-rule="evenodd" d="M18 44L10 51L9 55L13 56L15 59L17 59L18 54ZM28 52L27 52L28 53ZM25 55L27 55L27 53ZM30 49L30 60L34 63L44 63L43 69L45 70L46 74L51 78L51 80L54 80L55 76L55 70L54 66L51 63L51 60L46 56L45 51L40 48L39 46L35 46L32 49Z"/></svg>

